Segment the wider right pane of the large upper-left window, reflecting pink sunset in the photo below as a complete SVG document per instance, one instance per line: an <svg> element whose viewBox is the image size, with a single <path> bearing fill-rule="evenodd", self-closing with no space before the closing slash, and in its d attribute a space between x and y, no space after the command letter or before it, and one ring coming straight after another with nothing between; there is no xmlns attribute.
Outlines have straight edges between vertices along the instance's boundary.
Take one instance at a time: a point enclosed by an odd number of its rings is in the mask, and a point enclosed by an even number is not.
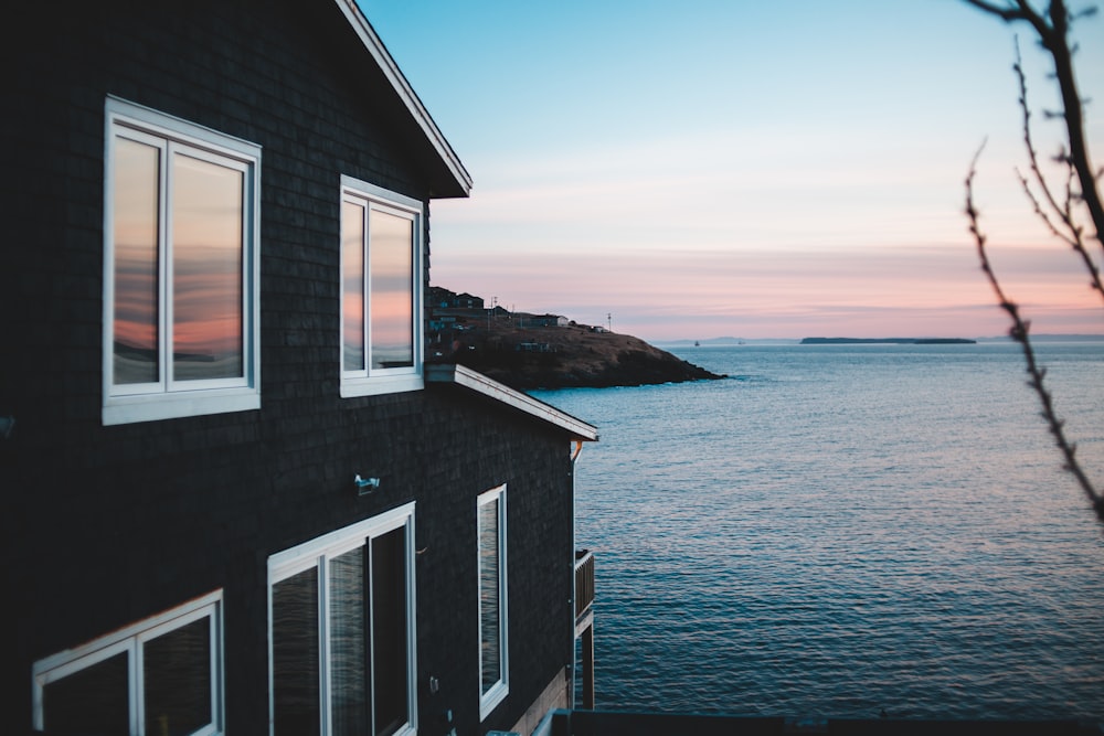
<svg viewBox="0 0 1104 736"><path fill-rule="evenodd" d="M183 154L172 164L173 377L241 377L245 177Z"/></svg>

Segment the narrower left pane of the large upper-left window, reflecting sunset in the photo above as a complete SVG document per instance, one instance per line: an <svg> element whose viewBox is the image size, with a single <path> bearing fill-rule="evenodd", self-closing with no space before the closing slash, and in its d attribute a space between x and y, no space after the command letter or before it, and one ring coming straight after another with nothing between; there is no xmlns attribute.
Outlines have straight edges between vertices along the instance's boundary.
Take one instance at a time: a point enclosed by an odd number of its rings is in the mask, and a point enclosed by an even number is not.
<svg viewBox="0 0 1104 736"><path fill-rule="evenodd" d="M115 139L114 383L158 376L158 191L160 149Z"/></svg>

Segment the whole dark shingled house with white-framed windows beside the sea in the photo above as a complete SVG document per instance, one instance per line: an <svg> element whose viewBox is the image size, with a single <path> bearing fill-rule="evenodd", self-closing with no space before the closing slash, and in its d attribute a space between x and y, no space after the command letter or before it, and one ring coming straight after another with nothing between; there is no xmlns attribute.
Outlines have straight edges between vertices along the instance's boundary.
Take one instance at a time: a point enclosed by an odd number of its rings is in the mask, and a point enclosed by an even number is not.
<svg viewBox="0 0 1104 736"><path fill-rule="evenodd" d="M354 1L6 20L0 732L569 706L597 435L425 365L429 202L471 182Z"/></svg>

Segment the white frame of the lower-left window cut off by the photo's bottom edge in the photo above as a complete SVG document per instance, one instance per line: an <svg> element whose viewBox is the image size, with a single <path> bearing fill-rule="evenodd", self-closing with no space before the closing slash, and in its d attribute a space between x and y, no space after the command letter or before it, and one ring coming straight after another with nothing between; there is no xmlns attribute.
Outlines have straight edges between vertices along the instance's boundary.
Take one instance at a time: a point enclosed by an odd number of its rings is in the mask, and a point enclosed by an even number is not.
<svg viewBox="0 0 1104 736"><path fill-rule="evenodd" d="M200 619L211 620L211 721L192 736L220 736L225 733L225 698L223 696L223 605L222 590L215 590L181 606L144 619L85 644L39 660L32 668L33 726L45 727L43 691L85 668L98 664L120 652L127 653L130 734L145 736L146 703L142 644L157 637Z"/></svg>

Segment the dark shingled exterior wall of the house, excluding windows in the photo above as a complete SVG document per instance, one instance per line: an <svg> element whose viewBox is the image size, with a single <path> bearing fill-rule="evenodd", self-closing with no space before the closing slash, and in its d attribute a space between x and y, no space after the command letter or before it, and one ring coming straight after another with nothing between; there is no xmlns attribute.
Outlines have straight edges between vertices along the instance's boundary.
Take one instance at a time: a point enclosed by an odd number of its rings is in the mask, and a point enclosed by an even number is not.
<svg viewBox="0 0 1104 736"><path fill-rule="evenodd" d="M567 439L447 387L339 398L340 175L432 195L347 21L332 2L19 12L0 58L0 730L30 730L36 660L221 588L227 730L267 733L268 557L410 501L420 733L449 710L458 733L509 728L573 655ZM259 410L103 426L108 95L263 149ZM357 473L381 487L358 497ZM502 483L510 694L480 723L476 498Z"/></svg>

